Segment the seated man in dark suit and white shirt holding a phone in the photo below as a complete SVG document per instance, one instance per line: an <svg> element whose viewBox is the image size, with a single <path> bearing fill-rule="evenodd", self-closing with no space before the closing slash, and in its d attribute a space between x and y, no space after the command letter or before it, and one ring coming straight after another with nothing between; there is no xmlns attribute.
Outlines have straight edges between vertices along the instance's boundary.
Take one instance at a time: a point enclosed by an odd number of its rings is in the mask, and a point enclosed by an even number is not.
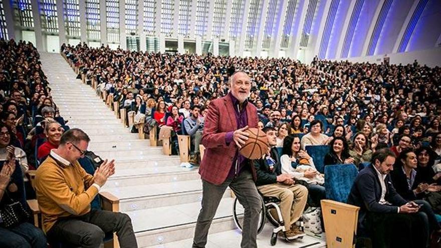
<svg viewBox="0 0 441 248"><path fill-rule="evenodd" d="M394 163L395 154L387 148L373 153L372 164L355 178L348 203L360 207L358 226L373 247L425 247L429 230L439 231L439 224L433 212L395 191L389 175Z"/></svg>

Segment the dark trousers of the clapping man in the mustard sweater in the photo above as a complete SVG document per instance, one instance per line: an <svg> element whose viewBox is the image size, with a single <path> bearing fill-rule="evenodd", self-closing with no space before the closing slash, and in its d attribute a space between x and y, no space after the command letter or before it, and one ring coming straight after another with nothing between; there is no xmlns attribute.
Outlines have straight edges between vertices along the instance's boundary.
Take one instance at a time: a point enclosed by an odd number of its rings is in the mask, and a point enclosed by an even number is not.
<svg viewBox="0 0 441 248"><path fill-rule="evenodd" d="M99 247L108 232L116 232L121 247L138 247L127 214L98 209L82 216L57 220L47 235L49 240L92 248Z"/></svg>

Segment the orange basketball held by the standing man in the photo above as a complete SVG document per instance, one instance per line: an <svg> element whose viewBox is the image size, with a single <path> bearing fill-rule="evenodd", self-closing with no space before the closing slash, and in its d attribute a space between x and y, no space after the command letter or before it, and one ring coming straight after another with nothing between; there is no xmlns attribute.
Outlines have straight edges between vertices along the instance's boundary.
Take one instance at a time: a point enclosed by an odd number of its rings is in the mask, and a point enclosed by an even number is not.
<svg viewBox="0 0 441 248"><path fill-rule="evenodd" d="M246 158L259 159L268 151L267 135L258 128L249 128L245 130L250 136L239 152Z"/></svg>

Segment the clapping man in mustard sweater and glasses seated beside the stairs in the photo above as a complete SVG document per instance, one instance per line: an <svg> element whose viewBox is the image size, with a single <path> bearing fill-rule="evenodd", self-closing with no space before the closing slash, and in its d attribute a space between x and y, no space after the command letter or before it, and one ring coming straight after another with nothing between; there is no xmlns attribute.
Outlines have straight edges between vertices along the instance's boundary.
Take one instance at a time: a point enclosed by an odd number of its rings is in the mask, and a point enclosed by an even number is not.
<svg viewBox="0 0 441 248"><path fill-rule="evenodd" d="M127 214L90 207L98 190L115 173L115 164L106 160L94 176L87 174L77 160L84 156L89 141L81 129L68 130L38 168L35 186L43 230L49 240L81 247L99 247L105 233L116 232L121 247L137 247Z"/></svg>

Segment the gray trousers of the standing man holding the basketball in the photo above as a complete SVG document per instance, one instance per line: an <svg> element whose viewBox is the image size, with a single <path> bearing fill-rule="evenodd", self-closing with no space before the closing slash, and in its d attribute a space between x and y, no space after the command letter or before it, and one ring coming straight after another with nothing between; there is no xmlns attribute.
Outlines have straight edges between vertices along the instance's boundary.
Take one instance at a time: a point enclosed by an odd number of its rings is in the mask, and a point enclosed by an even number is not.
<svg viewBox="0 0 441 248"><path fill-rule="evenodd" d="M256 237L259 214L262 210L262 200L251 172L244 169L236 178L227 178L220 185L214 185L202 180L202 208L197 217L196 229L194 231L194 248L205 247L211 221L216 213L220 199L222 199L228 186L235 192L239 202L245 208L241 247L257 247Z"/></svg>

